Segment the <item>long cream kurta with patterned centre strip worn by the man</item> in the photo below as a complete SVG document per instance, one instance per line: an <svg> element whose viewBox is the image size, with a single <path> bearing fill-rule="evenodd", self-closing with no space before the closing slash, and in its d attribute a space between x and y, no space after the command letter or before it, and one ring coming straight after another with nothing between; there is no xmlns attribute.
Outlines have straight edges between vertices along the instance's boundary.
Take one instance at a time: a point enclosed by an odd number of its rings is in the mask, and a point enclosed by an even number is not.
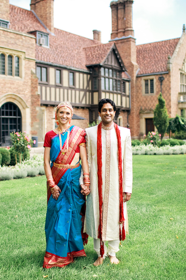
<svg viewBox="0 0 186 280"><path fill-rule="evenodd" d="M97 127L86 128L86 150L88 156L90 189L86 204L86 233L98 238L99 196L97 175ZM132 193L132 149L130 129L118 127L121 133L123 192ZM106 145L107 133L107 145ZM115 128L101 129L102 139L102 195L103 195L103 231L102 240L119 239L119 173L117 155L117 135ZM107 155L107 156L106 156ZM106 177L105 177L106 176ZM83 184L82 178L80 184ZM126 233L128 218L124 203Z"/></svg>

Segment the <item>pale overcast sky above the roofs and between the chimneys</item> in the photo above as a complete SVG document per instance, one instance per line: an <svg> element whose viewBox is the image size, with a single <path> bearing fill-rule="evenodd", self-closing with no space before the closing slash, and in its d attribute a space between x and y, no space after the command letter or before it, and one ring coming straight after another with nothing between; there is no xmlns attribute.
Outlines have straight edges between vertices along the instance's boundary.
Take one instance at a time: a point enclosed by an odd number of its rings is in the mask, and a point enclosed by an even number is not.
<svg viewBox="0 0 186 280"><path fill-rule="evenodd" d="M54 26L93 39L93 29L101 31L102 43L110 40L110 0L55 0ZM30 0L10 0L30 9ZM180 37L186 24L186 0L135 0L133 29L136 44Z"/></svg>

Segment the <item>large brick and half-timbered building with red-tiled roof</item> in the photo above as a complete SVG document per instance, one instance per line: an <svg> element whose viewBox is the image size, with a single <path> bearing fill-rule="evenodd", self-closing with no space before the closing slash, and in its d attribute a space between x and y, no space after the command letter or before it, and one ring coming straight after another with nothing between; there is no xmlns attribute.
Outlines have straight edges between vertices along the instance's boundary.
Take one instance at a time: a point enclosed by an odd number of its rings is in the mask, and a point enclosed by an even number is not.
<svg viewBox="0 0 186 280"><path fill-rule="evenodd" d="M185 27L180 38L136 46L133 1L112 1L111 40L102 44L98 30L91 40L54 28L53 2L31 0L30 11L0 2L0 145L15 130L42 145L63 100L74 107L72 124L86 128L104 97L116 103L114 121L139 138L153 130L159 79L170 117L185 110Z"/></svg>

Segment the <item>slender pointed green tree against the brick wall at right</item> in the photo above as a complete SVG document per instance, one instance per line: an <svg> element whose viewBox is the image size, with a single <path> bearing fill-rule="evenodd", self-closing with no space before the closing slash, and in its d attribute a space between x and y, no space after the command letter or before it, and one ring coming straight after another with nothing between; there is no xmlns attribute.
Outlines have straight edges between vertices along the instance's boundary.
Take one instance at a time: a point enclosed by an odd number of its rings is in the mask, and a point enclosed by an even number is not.
<svg viewBox="0 0 186 280"><path fill-rule="evenodd" d="M158 96L158 104L154 110L154 125L157 128L159 134L161 134L161 140L166 133L168 124L169 124L169 115L167 114L167 108L165 106L165 99L160 92Z"/></svg>

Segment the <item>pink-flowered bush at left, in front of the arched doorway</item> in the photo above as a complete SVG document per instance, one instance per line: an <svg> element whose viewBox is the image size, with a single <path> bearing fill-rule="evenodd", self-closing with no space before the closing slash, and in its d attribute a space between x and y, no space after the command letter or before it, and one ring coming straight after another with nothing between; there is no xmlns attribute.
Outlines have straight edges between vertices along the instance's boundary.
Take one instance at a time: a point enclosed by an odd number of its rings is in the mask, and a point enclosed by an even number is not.
<svg viewBox="0 0 186 280"><path fill-rule="evenodd" d="M34 143L33 140L30 140L28 135L26 135L26 131L24 132L15 132L11 133L11 141L12 141L12 147L15 150L15 161L17 163L17 156L19 155L20 157L20 162L21 162L21 154L23 155L23 161L24 161L24 153L28 152L30 148L32 147Z"/></svg>

